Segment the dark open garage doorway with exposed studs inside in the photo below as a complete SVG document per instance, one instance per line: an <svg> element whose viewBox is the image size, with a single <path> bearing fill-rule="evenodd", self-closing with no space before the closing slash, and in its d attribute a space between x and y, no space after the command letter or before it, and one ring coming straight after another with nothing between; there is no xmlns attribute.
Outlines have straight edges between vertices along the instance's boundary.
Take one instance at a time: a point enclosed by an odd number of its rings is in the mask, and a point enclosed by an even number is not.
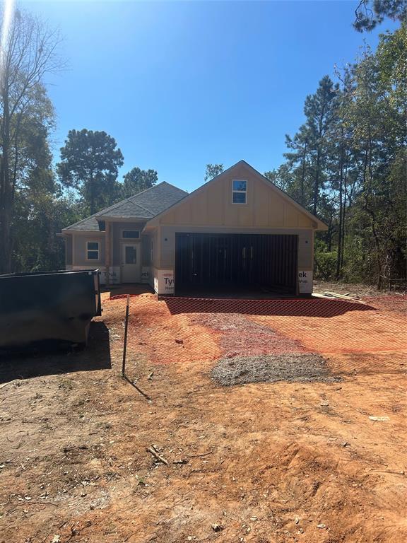
<svg viewBox="0 0 407 543"><path fill-rule="evenodd" d="M175 293L297 294L297 235L177 233Z"/></svg>

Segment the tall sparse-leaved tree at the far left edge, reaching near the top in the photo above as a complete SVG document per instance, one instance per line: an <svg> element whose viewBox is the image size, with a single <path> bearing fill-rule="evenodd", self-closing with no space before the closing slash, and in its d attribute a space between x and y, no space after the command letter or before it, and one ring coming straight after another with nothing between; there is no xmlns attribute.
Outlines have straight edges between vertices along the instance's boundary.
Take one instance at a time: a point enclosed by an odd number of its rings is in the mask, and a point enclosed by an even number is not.
<svg viewBox="0 0 407 543"><path fill-rule="evenodd" d="M16 194L25 161L35 163L35 142L28 141L28 119L42 101L45 74L61 68L59 37L39 19L24 11L4 11L0 51L0 273L11 271ZM48 103L49 107L49 103ZM37 116L45 131L52 113ZM38 153L37 158L38 158ZM29 158L30 156L30 158Z"/></svg>

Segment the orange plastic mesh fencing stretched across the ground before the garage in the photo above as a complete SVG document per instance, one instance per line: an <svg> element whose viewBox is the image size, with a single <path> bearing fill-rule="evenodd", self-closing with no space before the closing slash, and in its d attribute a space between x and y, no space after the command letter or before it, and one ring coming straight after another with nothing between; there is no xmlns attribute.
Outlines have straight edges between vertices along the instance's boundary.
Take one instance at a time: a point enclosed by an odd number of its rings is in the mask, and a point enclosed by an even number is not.
<svg viewBox="0 0 407 543"><path fill-rule="evenodd" d="M181 341L184 344L182 336L187 335L185 343L190 354L194 351L199 355L208 348L208 333L216 335L222 356L407 350L407 302L404 296L369 298L363 303L336 298L167 297L158 300L155 296L146 296L143 303L148 303L148 308L140 301L138 307L135 304L131 310L131 327L137 337L143 341L146 327L155 319L155 313L159 313L161 324L152 328L158 344L160 338L164 341L164 336L168 337L167 349L172 349L171 343ZM171 358L165 345L164 341L160 351L163 361ZM160 350L159 346L157 349Z"/></svg>

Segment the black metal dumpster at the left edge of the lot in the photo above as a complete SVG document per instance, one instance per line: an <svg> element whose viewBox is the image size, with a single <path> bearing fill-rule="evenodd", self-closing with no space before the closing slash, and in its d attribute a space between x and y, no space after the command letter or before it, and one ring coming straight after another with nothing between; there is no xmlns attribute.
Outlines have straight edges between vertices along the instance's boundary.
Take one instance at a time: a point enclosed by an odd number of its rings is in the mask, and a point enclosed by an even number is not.
<svg viewBox="0 0 407 543"><path fill-rule="evenodd" d="M95 315L98 269L0 275L0 349L86 344Z"/></svg>

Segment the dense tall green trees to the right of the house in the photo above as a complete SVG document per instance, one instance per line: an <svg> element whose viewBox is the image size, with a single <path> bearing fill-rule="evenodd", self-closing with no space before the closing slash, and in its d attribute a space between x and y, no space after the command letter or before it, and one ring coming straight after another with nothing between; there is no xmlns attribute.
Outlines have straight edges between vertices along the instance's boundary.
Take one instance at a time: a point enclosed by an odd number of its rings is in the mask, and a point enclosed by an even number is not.
<svg viewBox="0 0 407 543"><path fill-rule="evenodd" d="M338 71L340 86L323 78L267 174L328 225L315 252L324 279L406 283L406 57L403 23Z"/></svg>

